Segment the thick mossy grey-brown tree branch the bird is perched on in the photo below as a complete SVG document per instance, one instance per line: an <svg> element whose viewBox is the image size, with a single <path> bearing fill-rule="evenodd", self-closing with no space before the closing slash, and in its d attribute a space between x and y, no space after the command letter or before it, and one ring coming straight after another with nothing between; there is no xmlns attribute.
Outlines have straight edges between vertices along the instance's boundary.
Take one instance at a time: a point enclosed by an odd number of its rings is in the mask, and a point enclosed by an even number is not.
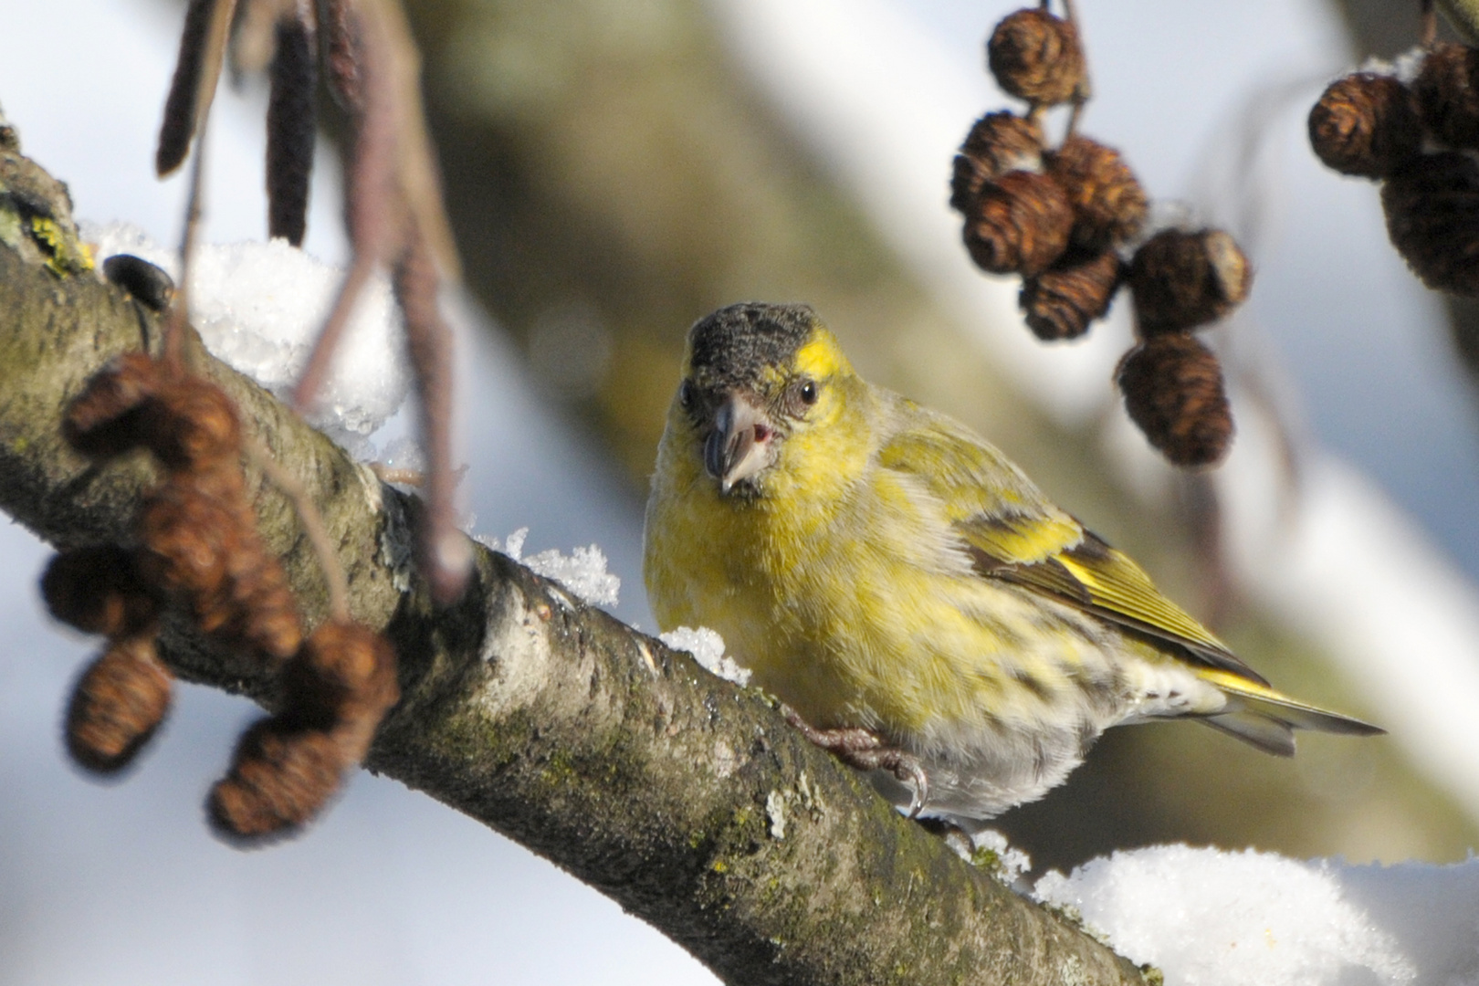
<svg viewBox="0 0 1479 986"><path fill-rule="evenodd" d="M115 353L157 352L161 325L93 275L58 273L77 248L65 189L12 151L0 148L0 507L59 547L127 541L152 467L90 466L62 441L61 408ZM194 334L186 359L319 504L355 618L401 656L404 698L371 770L546 856L731 983L1142 982L902 819L759 692L507 557L479 548L467 594L435 609L411 568L419 503ZM327 596L308 537L250 464L248 488L317 622ZM271 704L263 668L211 650L185 619L163 642L180 676Z"/></svg>

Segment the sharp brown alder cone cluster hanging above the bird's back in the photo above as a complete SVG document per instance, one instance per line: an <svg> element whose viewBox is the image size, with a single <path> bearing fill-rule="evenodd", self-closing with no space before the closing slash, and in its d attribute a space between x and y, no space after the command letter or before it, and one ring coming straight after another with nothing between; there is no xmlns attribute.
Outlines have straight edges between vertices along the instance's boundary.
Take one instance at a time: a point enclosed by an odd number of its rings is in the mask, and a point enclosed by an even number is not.
<svg viewBox="0 0 1479 986"><path fill-rule="evenodd" d="M1191 331L1248 294L1251 268L1220 229L1146 237L1149 200L1118 151L1075 132L1049 146L1043 114L1089 95L1078 28L1046 9L1007 15L986 43L1003 90L1026 115L989 112L955 157L950 204L964 216L976 266L1022 278L1019 305L1038 339L1077 339L1134 296L1139 344L1120 362L1126 409L1177 466L1219 461L1232 414L1217 358Z"/></svg>

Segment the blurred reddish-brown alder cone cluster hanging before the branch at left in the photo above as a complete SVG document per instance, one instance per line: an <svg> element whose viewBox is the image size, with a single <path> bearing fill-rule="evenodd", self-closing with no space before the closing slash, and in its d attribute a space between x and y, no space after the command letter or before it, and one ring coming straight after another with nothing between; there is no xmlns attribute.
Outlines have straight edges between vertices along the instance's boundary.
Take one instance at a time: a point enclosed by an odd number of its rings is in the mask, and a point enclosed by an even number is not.
<svg viewBox="0 0 1479 986"><path fill-rule="evenodd" d="M277 713L246 732L210 792L211 823L240 840L300 826L364 758L398 701L395 652L348 619L328 619L305 639L282 568L257 534L240 417L216 384L126 353L68 407L62 433L95 463L146 449L163 476L139 507L135 544L64 551L41 577L53 616L108 639L72 693L72 757L114 773L163 721L173 676L157 637L173 605L280 681Z"/></svg>

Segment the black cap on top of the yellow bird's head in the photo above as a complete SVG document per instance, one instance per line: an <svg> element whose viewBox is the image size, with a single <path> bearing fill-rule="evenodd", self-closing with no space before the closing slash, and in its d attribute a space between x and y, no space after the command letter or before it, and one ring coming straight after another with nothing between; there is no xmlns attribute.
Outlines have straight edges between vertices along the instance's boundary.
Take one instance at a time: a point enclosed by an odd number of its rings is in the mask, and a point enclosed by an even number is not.
<svg viewBox="0 0 1479 986"><path fill-rule="evenodd" d="M753 387L766 367L788 364L815 325L809 305L731 305L688 330L689 367L705 387Z"/></svg>

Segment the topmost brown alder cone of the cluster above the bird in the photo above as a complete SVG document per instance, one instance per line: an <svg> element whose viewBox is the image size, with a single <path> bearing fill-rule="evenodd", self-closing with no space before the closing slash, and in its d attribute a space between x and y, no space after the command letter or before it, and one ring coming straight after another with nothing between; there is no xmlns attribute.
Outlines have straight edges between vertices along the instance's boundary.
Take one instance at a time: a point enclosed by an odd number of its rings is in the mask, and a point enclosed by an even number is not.
<svg viewBox="0 0 1479 986"><path fill-rule="evenodd" d="M1068 102L1084 86L1078 28L1040 9L1016 10L997 24L986 67L1003 90L1034 105Z"/></svg>

